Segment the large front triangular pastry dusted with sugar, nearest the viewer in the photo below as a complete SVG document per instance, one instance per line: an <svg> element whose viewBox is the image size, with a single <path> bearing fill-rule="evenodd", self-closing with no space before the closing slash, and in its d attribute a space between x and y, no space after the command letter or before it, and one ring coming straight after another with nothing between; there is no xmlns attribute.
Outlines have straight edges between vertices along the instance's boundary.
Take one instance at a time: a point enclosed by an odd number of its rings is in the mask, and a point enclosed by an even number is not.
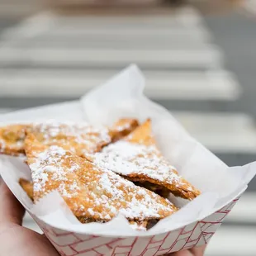
<svg viewBox="0 0 256 256"><path fill-rule="evenodd" d="M121 178L58 145L45 146L29 133L25 140L34 201L57 190L80 220L108 221L121 212L128 220L159 220L177 208L154 192Z"/></svg>

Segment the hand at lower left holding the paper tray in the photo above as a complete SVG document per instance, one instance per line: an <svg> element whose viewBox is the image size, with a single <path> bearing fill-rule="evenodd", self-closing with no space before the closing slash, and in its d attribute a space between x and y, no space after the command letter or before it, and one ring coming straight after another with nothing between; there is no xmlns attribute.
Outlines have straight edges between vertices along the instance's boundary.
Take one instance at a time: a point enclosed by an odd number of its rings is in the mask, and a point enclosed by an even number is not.
<svg viewBox="0 0 256 256"><path fill-rule="evenodd" d="M45 235L21 226L24 214L0 178L0 256L59 256Z"/></svg>

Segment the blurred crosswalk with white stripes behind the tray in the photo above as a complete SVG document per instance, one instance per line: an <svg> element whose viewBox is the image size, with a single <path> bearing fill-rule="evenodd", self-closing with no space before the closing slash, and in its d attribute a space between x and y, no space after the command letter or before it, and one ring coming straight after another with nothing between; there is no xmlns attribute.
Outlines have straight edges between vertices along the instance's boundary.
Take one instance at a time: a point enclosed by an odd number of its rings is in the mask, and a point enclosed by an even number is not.
<svg viewBox="0 0 256 256"><path fill-rule="evenodd" d="M216 154L255 154L254 119L217 105L243 89L223 68L225 55L196 9L172 15L59 17L45 12L5 31L0 40L0 112L50 99L71 100L127 64L145 72L145 94L168 109ZM212 102L211 111L173 111L173 102ZM31 105L30 105L31 106ZM235 206L211 240L208 256L256 254L256 187ZM249 207L250 206L250 207ZM24 225L36 229L26 217Z"/></svg>

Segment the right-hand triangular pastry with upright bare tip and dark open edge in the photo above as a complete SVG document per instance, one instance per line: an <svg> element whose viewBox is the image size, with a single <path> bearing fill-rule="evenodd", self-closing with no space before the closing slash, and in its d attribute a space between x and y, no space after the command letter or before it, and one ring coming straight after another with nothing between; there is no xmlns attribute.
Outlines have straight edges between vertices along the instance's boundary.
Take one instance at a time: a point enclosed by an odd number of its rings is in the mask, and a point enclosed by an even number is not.
<svg viewBox="0 0 256 256"><path fill-rule="evenodd" d="M123 140L108 145L87 158L100 168L107 168L131 181L166 187L175 196L192 200L200 192L178 175L156 147L150 120Z"/></svg>

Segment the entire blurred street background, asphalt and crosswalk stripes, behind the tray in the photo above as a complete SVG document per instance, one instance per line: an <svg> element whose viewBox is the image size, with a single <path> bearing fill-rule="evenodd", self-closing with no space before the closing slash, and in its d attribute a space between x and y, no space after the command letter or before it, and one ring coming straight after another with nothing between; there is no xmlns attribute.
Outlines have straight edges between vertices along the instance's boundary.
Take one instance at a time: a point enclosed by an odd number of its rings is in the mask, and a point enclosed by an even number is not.
<svg viewBox="0 0 256 256"><path fill-rule="evenodd" d="M256 159L255 1L70 2L0 0L1 113L77 99L136 63L145 93L226 164ZM206 255L255 256L255 242L256 179Z"/></svg>

